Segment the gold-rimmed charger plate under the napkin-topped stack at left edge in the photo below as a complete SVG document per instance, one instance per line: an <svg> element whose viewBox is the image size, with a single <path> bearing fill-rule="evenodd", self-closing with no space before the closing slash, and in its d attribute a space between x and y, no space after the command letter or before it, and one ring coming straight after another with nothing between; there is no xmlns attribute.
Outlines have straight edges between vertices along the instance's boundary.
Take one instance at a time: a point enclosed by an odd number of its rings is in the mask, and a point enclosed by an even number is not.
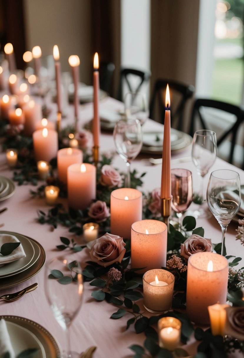
<svg viewBox="0 0 244 358"><path fill-rule="evenodd" d="M2 232L0 231L0 234ZM18 233L16 232L10 232L10 231L4 231L4 233L9 233L11 235L16 235ZM30 241L34 242L39 248L40 248L40 255L38 257L38 259L35 261L35 263L33 265L31 265L28 269L26 269L23 272L20 272L18 274L18 272L16 273L16 275L13 276L9 276L9 277L1 277L0 278L0 290L9 288L9 287L14 287L16 285L21 284L22 282L28 281L29 279L31 279L32 277L34 277L36 274L38 274L38 272L40 270L42 270L44 263L46 261L46 253L44 251L44 248L42 247L42 245L40 245L39 242L37 242L36 240L23 235L26 238L28 238Z"/></svg>

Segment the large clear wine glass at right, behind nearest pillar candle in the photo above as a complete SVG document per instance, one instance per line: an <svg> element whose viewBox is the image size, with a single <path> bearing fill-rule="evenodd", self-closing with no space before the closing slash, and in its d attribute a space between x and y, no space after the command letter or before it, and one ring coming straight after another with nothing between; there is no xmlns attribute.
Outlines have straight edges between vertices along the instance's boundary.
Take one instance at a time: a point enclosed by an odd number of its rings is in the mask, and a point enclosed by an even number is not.
<svg viewBox="0 0 244 358"><path fill-rule="evenodd" d="M207 202L222 230L221 255L224 254L225 233L241 203L240 176L233 170L215 170L207 188Z"/></svg>

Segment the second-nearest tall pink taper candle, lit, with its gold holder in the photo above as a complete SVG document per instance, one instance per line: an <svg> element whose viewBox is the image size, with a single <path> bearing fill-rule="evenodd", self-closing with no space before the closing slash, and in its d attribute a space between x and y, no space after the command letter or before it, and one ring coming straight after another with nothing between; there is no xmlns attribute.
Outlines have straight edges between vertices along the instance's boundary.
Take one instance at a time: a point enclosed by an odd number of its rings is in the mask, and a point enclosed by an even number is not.
<svg viewBox="0 0 244 358"><path fill-rule="evenodd" d="M99 161L99 145L100 145L100 116L99 116L99 60L98 53L94 55L94 72L93 72L93 160L97 166Z"/></svg>

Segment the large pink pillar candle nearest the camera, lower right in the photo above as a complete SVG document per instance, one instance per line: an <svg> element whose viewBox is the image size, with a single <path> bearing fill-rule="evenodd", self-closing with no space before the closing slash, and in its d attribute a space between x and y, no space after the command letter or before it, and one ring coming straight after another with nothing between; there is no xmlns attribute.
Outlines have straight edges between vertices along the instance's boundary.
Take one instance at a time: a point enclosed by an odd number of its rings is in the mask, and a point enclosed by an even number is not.
<svg viewBox="0 0 244 358"><path fill-rule="evenodd" d="M196 324L209 324L208 306L226 303L229 266L224 256L197 252L187 265L186 312Z"/></svg>

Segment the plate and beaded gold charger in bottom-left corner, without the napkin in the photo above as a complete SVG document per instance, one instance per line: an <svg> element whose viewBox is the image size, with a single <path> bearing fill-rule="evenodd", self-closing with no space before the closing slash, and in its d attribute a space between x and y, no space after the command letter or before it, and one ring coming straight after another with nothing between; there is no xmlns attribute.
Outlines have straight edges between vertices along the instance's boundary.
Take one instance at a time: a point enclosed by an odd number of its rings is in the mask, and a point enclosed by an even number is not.
<svg viewBox="0 0 244 358"><path fill-rule="evenodd" d="M60 358L61 348L57 340L41 325L19 316L0 316L4 318L17 356L29 348L36 348L36 358Z"/></svg>

